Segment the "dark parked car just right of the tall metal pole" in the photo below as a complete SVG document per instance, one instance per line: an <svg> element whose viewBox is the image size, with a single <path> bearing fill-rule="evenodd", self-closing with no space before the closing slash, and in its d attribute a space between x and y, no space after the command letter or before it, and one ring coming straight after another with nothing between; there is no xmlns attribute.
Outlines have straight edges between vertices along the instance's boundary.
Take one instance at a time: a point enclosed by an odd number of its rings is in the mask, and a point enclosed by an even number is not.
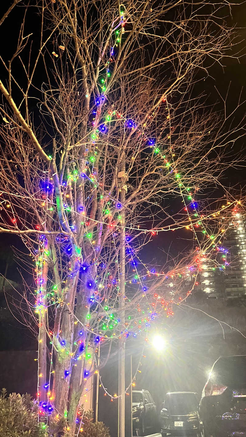
<svg viewBox="0 0 246 437"><path fill-rule="evenodd" d="M156 404L147 390L132 391L132 430L144 436L146 430L155 430L158 423ZM150 433L149 433L150 434Z"/></svg>

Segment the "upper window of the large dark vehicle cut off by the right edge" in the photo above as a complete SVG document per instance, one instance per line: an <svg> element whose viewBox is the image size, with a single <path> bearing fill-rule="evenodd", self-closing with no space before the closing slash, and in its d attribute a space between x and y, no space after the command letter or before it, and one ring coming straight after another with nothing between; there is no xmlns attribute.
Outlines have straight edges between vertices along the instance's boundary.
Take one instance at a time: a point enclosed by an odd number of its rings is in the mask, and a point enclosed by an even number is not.
<svg viewBox="0 0 246 437"><path fill-rule="evenodd" d="M246 355L221 357L215 363L211 379L223 384L246 383Z"/></svg>

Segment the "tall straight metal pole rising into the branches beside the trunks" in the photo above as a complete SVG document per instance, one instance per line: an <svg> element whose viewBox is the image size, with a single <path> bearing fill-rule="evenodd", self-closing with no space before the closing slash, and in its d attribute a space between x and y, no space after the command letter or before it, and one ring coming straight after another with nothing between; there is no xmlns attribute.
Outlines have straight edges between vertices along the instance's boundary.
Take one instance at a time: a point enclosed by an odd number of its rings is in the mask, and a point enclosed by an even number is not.
<svg viewBox="0 0 246 437"><path fill-rule="evenodd" d="M121 160L121 172L125 177L125 152ZM121 314L121 338L119 340L119 385L118 385L118 437L125 437L125 194L126 185L121 187L121 236L120 236L120 290L119 309Z"/></svg>

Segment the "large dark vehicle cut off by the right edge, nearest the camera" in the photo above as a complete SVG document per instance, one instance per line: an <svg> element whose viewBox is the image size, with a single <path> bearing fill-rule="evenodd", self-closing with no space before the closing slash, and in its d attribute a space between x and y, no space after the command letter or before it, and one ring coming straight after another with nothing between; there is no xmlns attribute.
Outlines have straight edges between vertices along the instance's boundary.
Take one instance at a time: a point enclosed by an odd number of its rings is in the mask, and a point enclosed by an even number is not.
<svg viewBox="0 0 246 437"><path fill-rule="evenodd" d="M200 401L206 437L246 437L246 355L219 357Z"/></svg>

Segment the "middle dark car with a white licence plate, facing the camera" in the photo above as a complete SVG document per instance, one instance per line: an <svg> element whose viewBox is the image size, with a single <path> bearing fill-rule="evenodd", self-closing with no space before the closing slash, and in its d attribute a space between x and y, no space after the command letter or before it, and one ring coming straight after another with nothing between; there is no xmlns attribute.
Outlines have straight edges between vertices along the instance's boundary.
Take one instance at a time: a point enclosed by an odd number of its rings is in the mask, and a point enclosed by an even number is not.
<svg viewBox="0 0 246 437"><path fill-rule="evenodd" d="M197 393L166 393L160 414L161 435L203 436Z"/></svg>

